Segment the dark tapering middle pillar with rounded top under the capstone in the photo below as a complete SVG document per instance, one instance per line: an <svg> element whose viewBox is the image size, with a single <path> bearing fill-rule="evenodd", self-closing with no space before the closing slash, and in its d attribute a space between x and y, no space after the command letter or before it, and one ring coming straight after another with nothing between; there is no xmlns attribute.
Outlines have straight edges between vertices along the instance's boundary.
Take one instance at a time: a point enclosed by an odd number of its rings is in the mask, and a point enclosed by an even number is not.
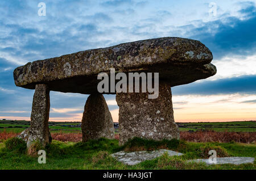
<svg viewBox="0 0 256 181"><path fill-rule="evenodd" d="M101 94L92 94L86 100L82 115L82 141L105 137L114 139L114 123L108 105Z"/></svg>

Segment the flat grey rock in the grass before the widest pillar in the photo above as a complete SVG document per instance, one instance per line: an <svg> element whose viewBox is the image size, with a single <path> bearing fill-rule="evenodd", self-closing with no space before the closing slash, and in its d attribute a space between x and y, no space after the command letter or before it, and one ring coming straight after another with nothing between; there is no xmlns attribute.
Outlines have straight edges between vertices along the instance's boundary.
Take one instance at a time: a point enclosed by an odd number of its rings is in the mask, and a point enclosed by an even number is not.
<svg viewBox="0 0 256 181"><path fill-rule="evenodd" d="M167 152L169 156L183 155L182 153L178 153L176 151L160 149L155 151L133 151L133 152L119 151L117 153L113 153L112 157L114 157L115 159L117 159L118 161L124 164L136 165L143 161L160 157L165 152Z"/></svg>

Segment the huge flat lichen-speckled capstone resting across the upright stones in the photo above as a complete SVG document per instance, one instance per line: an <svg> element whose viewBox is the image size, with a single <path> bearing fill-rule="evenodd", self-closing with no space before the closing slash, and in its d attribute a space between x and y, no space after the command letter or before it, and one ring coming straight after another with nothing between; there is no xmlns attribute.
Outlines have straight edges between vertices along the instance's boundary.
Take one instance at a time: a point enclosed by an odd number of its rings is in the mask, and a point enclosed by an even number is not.
<svg viewBox="0 0 256 181"><path fill-rule="evenodd" d="M216 74L216 67L210 64L212 58L200 41L163 37L29 62L14 70L14 81L27 89L44 83L52 91L92 94L101 81L98 73L109 74L114 68L116 73L159 73L159 79L172 87Z"/></svg>

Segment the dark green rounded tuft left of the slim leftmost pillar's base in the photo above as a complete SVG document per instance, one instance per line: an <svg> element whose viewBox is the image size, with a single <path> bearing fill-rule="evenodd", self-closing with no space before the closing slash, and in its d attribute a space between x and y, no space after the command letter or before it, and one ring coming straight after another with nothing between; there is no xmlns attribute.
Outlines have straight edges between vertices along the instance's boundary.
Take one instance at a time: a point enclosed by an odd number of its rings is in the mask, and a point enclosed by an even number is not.
<svg viewBox="0 0 256 181"><path fill-rule="evenodd" d="M21 138L13 137L5 141L5 149L6 151L14 151L15 153L25 153L27 144Z"/></svg>

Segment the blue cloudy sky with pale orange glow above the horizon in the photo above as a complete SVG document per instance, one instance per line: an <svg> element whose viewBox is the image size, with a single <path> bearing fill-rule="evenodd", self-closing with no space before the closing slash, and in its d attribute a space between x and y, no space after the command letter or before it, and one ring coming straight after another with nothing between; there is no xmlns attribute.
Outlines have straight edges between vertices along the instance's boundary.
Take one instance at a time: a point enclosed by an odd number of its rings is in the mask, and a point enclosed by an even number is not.
<svg viewBox="0 0 256 181"><path fill-rule="evenodd" d="M18 66L175 36L201 41L217 67L213 77L172 87L175 121L256 120L256 1L1 0L0 14L0 119L30 120L34 90L15 86ZM115 95L104 97L118 121ZM87 98L51 91L49 121L81 121Z"/></svg>

